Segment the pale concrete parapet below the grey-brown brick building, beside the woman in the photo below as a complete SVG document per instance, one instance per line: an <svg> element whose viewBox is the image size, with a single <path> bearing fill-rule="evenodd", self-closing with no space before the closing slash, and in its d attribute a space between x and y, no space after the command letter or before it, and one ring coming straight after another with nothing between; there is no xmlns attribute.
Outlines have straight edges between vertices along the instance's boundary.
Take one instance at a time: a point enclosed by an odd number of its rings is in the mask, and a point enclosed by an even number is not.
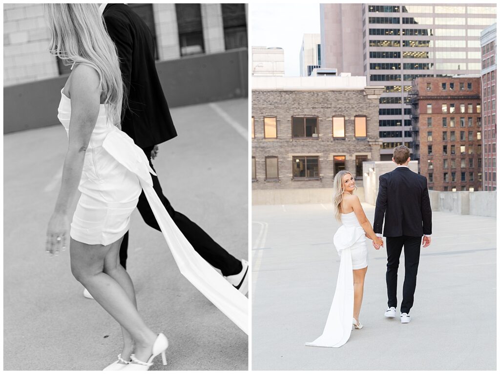
<svg viewBox="0 0 500 374"><path fill-rule="evenodd" d="M354 194L364 202L364 188ZM297 188L283 190L252 190L252 205L331 204L333 188Z"/></svg>

